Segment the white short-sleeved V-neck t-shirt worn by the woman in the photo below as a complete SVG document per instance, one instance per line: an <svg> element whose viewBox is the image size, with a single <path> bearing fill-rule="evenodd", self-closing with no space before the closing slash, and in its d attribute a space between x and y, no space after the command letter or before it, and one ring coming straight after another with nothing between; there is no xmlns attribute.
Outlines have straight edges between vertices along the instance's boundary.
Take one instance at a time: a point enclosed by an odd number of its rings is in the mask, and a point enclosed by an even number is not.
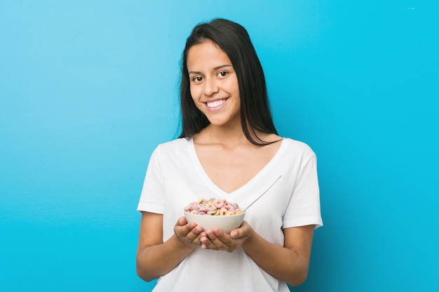
<svg viewBox="0 0 439 292"><path fill-rule="evenodd" d="M264 239L283 246L283 228L323 225L316 155L306 144L283 139L278 152L248 183L226 193L213 183L199 162L192 139L159 145L149 160L138 211L163 214L163 242L173 235L183 208L201 197L224 198L247 207L244 220ZM262 270L243 249L232 253L195 249L158 279L153 291L289 291L285 282Z"/></svg>

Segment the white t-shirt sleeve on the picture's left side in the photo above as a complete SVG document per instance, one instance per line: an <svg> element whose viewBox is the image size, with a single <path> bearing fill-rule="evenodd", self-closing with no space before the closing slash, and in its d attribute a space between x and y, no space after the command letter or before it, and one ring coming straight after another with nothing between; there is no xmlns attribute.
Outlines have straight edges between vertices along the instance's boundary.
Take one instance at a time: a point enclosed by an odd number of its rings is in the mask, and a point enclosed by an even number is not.
<svg viewBox="0 0 439 292"><path fill-rule="evenodd" d="M154 150L149 159L147 174L144 179L137 211L148 211L163 214L163 173L160 165L159 147Z"/></svg>

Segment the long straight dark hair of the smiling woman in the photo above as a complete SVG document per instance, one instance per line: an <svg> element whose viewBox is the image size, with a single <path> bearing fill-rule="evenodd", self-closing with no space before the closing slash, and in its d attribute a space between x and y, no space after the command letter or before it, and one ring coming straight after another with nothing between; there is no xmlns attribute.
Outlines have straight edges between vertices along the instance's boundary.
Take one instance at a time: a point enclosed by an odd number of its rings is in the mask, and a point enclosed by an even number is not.
<svg viewBox="0 0 439 292"><path fill-rule="evenodd" d="M215 19L196 25L187 38L181 61L182 132L180 138L192 137L209 125L208 118L197 109L191 97L187 71L189 48L209 40L224 50L236 72L241 97L241 126L245 137L255 145L270 144L270 142L259 139L256 133L256 131L259 131L267 134L277 134L271 118L261 62L259 62L255 48L245 28L224 19Z"/></svg>

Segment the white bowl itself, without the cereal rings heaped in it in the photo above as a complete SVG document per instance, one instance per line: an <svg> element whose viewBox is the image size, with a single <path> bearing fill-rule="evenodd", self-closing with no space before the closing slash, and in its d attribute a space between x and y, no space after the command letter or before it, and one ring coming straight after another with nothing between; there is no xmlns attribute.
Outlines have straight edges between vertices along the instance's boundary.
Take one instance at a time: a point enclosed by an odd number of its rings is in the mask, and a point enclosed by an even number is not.
<svg viewBox="0 0 439 292"><path fill-rule="evenodd" d="M229 233L231 230L241 226L244 216L245 212L236 215L209 216L191 214L187 211L184 211L184 217L186 217L188 223L194 222L196 225L200 225L203 230L213 230L214 228L218 228L226 233Z"/></svg>

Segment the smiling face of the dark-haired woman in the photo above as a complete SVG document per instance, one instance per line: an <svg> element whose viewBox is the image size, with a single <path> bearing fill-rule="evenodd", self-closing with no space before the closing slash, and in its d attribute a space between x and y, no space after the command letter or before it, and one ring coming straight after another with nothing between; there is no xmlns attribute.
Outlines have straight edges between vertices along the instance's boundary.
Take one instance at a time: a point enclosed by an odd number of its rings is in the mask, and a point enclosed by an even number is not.
<svg viewBox="0 0 439 292"><path fill-rule="evenodd" d="M238 78L229 56L205 41L189 48L187 70L192 99L210 124L241 126Z"/></svg>

